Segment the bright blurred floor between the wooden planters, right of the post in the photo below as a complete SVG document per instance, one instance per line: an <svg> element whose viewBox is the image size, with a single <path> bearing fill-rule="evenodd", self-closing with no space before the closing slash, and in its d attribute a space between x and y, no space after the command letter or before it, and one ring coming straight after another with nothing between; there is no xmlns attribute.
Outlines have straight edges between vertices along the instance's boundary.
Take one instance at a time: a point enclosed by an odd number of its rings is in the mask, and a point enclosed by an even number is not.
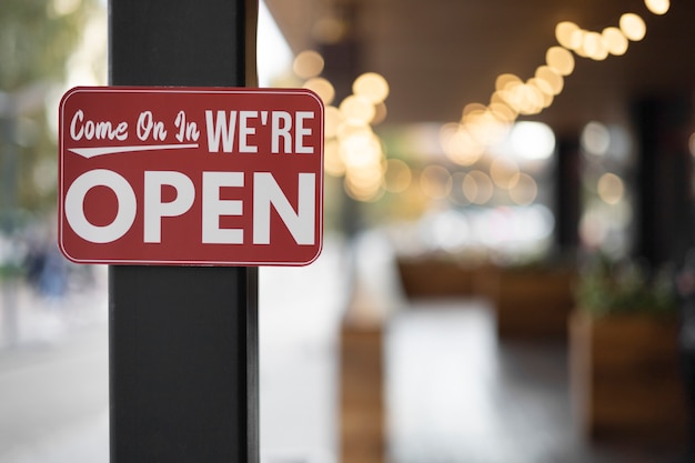
<svg viewBox="0 0 695 463"><path fill-rule="evenodd" d="M386 335L394 463L669 463L673 449L590 444L562 344L503 343L482 301L419 304Z"/></svg>

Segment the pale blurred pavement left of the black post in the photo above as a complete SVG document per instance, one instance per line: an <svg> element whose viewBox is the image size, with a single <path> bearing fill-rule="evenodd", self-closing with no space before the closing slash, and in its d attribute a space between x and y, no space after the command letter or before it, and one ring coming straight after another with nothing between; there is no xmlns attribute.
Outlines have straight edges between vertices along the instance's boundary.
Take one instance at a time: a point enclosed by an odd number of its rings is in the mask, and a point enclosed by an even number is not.
<svg viewBox="0 0 695 463"><path fill-rule="evenodd" d="M108 462L107 268L46 298L0 286L0 462Z"/></svg>

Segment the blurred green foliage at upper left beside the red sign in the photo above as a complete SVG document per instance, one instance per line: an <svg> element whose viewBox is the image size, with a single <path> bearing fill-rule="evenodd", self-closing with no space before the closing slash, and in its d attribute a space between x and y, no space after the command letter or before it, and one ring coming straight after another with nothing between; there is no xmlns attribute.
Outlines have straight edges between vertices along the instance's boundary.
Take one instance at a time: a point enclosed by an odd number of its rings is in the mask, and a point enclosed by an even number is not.
<svg viewBox="0 0 695 463"><path fill-rule="evenodd" d="M0 179L6 184L0 204L6 209L44 211L56 203L57 140L42 102L64 80L66 63L97 8L95 0L0 1Z"/></svg>

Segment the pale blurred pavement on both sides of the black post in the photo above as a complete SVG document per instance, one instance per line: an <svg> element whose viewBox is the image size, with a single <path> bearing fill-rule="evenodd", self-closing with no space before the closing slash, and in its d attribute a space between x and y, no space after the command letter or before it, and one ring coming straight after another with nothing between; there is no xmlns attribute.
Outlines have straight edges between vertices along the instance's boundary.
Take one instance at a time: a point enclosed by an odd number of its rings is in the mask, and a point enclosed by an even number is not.
<svg viewBox="0 0 695 463"><path fill-rule="evenodd" d="M346 272L331 236L312 265L260 270L262 463L335 463ZM60 300L18 286L14 334L0 305L0 463L109 461L107 276Z"/></svg>

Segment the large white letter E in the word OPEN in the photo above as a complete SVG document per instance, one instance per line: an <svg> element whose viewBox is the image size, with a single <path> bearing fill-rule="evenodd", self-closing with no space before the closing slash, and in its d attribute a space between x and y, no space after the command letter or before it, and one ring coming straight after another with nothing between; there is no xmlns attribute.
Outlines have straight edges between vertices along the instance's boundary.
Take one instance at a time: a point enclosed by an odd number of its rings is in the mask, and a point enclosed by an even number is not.
<svg viewBox="0 0 695 463"><path fill-rule="evenodd" d="M223 187L243 187L243 172L203 172L203 243L242 244L242 229L221 229L220 217L241 215L241 200L220 199Z"/></svg>

